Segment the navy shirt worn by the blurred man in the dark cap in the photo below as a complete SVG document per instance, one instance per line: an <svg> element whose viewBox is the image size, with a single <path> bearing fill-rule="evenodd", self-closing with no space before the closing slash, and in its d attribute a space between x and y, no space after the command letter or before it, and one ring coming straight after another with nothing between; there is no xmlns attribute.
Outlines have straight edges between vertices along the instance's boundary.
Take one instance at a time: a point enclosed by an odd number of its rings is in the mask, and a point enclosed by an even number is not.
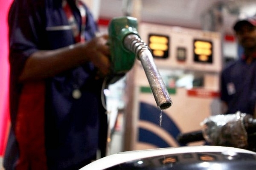
<svg viewBox="0 0 256 170"><path fill-rule="evenodd" d="M256 102L256 60L247 64L238 59L221 73L221 100L227 103L227 113L241 111L253 114Z"/></svg>

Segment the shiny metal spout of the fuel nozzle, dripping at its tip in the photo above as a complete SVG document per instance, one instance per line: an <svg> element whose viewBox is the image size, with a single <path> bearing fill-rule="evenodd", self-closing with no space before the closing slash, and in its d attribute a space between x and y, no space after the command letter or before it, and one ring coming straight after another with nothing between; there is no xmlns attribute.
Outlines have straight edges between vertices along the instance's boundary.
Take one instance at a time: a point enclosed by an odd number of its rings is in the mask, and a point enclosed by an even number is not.
<svg viewBox="0 0 256 170"><path fill-rule="evenodd" d="M157 108L165 110L171 107L172 100L153 61L153 56L148 46L137 34L128 34L124 38L123 44L126 49L134 52L140 60L157 103Z"/></svg>

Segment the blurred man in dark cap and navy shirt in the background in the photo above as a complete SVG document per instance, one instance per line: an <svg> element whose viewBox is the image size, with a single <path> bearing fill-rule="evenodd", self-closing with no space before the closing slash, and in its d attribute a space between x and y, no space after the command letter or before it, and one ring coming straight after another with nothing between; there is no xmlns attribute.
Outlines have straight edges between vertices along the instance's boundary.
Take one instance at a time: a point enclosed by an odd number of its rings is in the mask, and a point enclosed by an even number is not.
<svg viewBox="0 0 256 170"><path fill-rule="evenodd" d="M228 63L221 73L221 100L226 112L253 115L256 102L256 17L236 21L233 26L244 53Z"/></svg>

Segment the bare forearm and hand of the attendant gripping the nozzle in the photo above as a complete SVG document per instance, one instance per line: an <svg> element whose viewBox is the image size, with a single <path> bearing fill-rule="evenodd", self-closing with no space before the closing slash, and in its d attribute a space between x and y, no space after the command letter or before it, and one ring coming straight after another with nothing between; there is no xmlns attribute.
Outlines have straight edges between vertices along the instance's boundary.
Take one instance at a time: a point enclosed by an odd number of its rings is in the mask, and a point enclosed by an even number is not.
<svg viewBox="0 0 256 170"><path fill-rule="evenodd" d="M24 65L20 82L53 77L86 62L93 62L100 75L110 72L108 36L96 37L88 42L76 43L64 48L33 53Z"/></svg>

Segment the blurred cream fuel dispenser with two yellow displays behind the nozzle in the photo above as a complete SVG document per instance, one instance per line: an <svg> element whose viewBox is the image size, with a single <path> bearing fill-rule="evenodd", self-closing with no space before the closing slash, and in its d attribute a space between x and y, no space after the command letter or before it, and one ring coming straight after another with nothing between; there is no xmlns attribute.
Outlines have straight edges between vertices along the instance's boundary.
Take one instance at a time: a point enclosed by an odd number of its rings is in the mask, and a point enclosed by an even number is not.
<svg viewBox="0 0 256 170"><path fill-rule="evenodd" d="M111 36L119 36L122 28L112 28L116 32L110 32L114 34ZM130 30L129 33L134 31ZM124 111L123 150L180 146L176 139L179 133L198 130L205 117L220 113L221 35L218 32L153 23L140 23L139 32L140 36L137 30L124 35L119 39L119 44L127 51L132 47L126 43L134 43L139 50L139 42L132 39L145 40L148 48L143 50L150 48L168 95L176 102L171 109L159 110L151 90L151 85L155 83L148 81L145 76L145 67L151 69L151 66L143 65L144 61L134 52L139 59L134 61L126 77L125 99L128 102ZM126 37L131 41L126 41Z"/></svg>

